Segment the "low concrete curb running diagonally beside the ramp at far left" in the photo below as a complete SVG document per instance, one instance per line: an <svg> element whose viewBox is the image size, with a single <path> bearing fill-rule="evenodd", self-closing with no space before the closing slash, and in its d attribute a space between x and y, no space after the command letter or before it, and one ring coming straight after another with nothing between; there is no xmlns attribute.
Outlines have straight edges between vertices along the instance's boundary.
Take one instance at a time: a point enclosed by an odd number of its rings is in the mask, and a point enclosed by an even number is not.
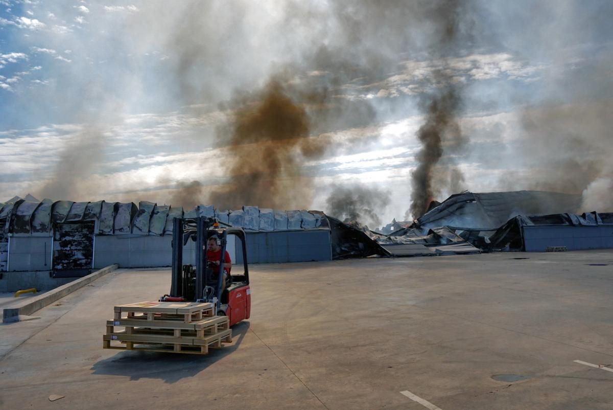
<svg viewBox="0 0 613 410"><path fill-rule="evenodd" d="M19 315L31 315L32 313L39 311L40 309L50 305L58 299L63 298L64 296L70 295L70 293L74 292L75 290L82 288L83 286L93 282L109 272L114 271L117 268L119 268L119 265L117 264L109 265L106 268L102 268L99 271L89 274L88 276L74 280L69 284L56 287L55 289L50 290L49 292L46 292L40 296L34 296L34 298L28 298L17 304L13 304L12 306L7 306L4 308L2 322L18 322Z"/></svg>

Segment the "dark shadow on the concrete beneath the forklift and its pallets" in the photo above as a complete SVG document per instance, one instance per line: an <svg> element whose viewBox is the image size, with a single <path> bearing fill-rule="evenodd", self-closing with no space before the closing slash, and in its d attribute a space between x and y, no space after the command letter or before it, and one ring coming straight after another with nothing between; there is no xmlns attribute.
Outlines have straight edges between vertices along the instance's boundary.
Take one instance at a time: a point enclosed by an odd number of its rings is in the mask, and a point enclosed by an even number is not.
<svg viewBox="0 0 613 410"><path fill-rule="evenodd" d="M238 323L232 327L232 344L230 346L226 344L221 349L209 349L207 355L126 350L94 363L91 367L92 374L129 376L131 380L161 379L172 384L185 377L196 376L208 366L234 352L248 330L249 322Z"/></svg>

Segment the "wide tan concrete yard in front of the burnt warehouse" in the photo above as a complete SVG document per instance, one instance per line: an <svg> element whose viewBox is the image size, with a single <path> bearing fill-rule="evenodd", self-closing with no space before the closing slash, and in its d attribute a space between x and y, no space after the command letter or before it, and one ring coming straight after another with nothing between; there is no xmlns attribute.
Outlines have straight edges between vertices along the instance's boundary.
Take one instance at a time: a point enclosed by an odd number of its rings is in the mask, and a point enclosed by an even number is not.
<svg viewBox="0 0 613 410"><path fill-rule="evenodd" d="M251 319L202 357L102 349L113 306L168 292L169 271L115 271L0 325L0 408L613 408L613 251L250 273Z"/></svg>

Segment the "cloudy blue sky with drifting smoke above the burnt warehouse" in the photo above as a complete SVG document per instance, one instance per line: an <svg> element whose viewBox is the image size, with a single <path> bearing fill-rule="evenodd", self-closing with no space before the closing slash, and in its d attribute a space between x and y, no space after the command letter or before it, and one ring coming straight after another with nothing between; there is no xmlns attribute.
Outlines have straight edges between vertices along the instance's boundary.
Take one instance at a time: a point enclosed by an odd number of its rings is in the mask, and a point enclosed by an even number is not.
<svg viewBox="0 0 613 410"><path fill-rule="evenodd" d="M417 134L451 88L433 198L542 189L613 211L611 15L607 0L0 0L0 202L331 211L356 193L364 222L402 220ZM240 133L271 88L304 126ZM257 184L236 185L243 168Z"/></svg>

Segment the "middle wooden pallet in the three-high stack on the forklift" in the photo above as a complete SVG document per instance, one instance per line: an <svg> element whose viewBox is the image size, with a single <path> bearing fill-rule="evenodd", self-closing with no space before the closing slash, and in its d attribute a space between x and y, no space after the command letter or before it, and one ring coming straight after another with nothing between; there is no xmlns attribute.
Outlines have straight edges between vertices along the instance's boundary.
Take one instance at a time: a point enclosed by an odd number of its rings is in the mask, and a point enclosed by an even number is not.
<svg viewBox="0 0 613 410"><path fill-rule="evenodd" d="M198 322L185 323L164 320L120 319L107 320L107 333L114 333L115 327L123 327L128 334L158 334L175 337L204 338L230 328L227 316L206 317Z"/></svg>

